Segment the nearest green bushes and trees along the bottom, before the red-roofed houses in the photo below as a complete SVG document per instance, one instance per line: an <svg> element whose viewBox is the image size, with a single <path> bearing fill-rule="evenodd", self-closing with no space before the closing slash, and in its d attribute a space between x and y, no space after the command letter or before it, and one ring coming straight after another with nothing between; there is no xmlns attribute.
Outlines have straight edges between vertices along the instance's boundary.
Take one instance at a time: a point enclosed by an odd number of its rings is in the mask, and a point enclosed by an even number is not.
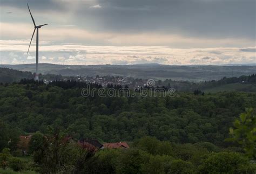
<svg viewBox="0 0 256 174"><path fill-rule="evenodd" d="M175 144L144 137L130 149L82 149L73 141L63 141L61 134L32 138L33 161L12 157L8 149L0 154L2 167L15 171L39 173L255 173L242 152L221 149L207 142ZM7 156L6 158L3 158ZM3 161L5 166L3 166ZM9 169L10 170L10 169ZM7 173L8 170L2 170Z"/></svg>

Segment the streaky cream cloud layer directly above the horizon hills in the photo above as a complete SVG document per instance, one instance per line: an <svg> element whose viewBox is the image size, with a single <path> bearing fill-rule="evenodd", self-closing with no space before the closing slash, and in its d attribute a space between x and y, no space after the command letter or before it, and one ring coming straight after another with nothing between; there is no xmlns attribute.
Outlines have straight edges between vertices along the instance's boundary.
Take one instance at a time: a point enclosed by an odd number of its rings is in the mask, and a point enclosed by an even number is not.
<svg viewBox="0 0 256 174"><path fill-rule="evenodd" d="M0 40L2 64L35 62L35 43L26 54L29 40ZM86 46L43 42L39 62L69 65L147 64L219 65L256 63L256 47L171 48L167 46Z"/></svg>

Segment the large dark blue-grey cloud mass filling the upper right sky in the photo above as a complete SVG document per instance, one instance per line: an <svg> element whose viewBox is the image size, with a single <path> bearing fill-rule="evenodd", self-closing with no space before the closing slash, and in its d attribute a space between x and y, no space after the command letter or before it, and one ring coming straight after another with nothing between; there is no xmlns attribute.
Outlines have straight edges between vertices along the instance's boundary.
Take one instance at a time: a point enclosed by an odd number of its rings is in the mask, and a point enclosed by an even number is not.
<svg viewBox="0 0 256 174"><path fill-rule="evenodd" d="M255 38L254 0L110 0L99 4L103 8L93 15L105 30Z"/></svg>

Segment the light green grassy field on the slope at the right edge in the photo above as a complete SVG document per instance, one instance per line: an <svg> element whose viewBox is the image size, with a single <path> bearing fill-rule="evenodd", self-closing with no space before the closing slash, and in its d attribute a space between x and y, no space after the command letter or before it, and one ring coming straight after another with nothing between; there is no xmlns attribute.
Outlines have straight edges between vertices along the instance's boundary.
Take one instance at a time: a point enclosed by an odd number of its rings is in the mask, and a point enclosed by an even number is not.
<svg viewBox="0 0 256 174"><path fill-rule="evenodd" d="M244 92L255 92L256 85L253 84L242 84L242 83L231 83L226 85L221 85L218 87L213 87L209 89L205 89L206 93L217 93L217 92L232 92L232 91L244 91Z"/></svg>

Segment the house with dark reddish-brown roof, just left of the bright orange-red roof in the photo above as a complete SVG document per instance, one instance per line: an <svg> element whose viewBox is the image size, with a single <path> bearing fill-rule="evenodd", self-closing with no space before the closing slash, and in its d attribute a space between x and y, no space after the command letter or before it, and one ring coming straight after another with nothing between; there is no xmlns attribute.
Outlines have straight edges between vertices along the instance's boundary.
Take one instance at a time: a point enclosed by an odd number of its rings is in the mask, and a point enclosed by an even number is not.
<svg viewBox="0 0 256 174"><path fill-rule="evenodd" d="M97 139L84 138L82 140L79 140L78 143L79 143L79 145L82 146L82 148L91 150L91 151L97 151L99 149L104 149L103 144L100 143Z"/></svg>

